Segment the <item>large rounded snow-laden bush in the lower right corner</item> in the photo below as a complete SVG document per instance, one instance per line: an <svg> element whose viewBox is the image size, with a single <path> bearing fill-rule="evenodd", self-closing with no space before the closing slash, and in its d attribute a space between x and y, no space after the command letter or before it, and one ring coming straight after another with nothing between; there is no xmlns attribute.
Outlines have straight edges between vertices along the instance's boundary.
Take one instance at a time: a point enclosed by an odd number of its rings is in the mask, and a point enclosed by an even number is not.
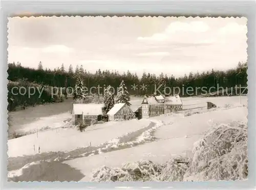
<svg viewBox="0 0 256 190"><path fill-rule="evenodd" d="M234 122L211 128L195 144L190 162L187 181L246 179L247 126Z"/></svg>

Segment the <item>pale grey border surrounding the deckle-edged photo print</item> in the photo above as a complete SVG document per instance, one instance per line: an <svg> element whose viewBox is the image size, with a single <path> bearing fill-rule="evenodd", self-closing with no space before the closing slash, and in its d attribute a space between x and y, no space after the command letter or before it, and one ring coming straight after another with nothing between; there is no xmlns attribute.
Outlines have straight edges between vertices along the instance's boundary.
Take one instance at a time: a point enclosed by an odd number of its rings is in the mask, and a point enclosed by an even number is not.
<svg viewBox="0 0 256 190"><path fill-rule="evenodd" d="M255 2L254 1L41 1L1 2L1 187L2 188L253 188L255 186ZM41 15L102 15L102 16L245 16L248 19L248 155L249 176L246 181L218 182L7 182L7 17L20 12L33 12ZM254 188L253 188L254 189Z"/></svg>

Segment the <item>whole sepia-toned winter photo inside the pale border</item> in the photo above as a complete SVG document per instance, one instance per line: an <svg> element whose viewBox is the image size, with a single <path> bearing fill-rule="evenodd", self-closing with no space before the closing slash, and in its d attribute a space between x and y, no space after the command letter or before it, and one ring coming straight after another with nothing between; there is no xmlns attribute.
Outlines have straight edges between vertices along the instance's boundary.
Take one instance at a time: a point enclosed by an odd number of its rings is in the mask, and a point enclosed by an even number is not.
<svg viewBox="0 0 256 190"><path fill-rule="evenodd" d="M249 175L245 17L8 18L8 181Z"/></svg>

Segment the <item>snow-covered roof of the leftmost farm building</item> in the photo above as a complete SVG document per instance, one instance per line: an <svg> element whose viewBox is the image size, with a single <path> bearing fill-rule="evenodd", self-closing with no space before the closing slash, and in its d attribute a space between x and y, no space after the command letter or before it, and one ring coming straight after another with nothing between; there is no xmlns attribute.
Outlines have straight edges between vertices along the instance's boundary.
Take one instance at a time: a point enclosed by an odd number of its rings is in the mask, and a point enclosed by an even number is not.
<svg viewBox="0 0 256 190"><path fill-rule="evenodd" d="M73 104L73 114L75 115L101 115L102 107L104 104L96 104L96 103L74 103Z"/></svg>

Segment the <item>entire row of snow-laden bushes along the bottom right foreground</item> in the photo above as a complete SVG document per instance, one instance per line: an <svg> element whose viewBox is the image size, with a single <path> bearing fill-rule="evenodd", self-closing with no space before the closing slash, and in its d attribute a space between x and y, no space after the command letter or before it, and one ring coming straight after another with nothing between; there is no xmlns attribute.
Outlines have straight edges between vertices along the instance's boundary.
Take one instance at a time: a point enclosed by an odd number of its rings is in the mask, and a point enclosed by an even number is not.
<svg viewBox="0 0 256 190"><path fill-rule="evenodd" d="M248 175L247 125L234 122L208 130L192 155L168 160L163 166L141 160L119 168L102 167L93 181L217 181L244 180Z"/></svg>

